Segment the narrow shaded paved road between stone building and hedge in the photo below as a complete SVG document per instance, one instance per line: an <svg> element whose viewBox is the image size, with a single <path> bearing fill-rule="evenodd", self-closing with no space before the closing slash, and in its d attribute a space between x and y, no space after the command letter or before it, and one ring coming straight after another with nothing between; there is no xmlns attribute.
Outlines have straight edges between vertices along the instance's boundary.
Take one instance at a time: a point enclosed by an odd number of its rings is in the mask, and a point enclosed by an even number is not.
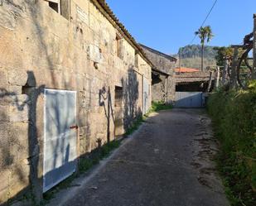
<svg viewBox="0 0 256 206"><path fill-rule="evenodd" d="M96 174L65 194L62 205L229 205L212 161L215 152L204 110L153 114Z"/></svg>

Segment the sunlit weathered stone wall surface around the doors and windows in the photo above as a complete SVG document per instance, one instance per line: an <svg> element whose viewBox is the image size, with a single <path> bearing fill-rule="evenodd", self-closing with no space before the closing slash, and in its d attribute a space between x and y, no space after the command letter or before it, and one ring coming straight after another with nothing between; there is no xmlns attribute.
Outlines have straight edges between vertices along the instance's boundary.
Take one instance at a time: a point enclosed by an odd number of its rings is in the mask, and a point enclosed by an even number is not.
<svg viewBox="0 0 256 206"><path fill-rule="evenodd" d="M0 2L1 204L29 189L41 199L45 88L77 91L81 156L108 131L114 139L115 86L125 94L124 127L141 113L142 76L150 83L151 67L141 56L134 67L125 38L118 57L117 29L89 0L70 1L70 20L43 0Z"/></svg>

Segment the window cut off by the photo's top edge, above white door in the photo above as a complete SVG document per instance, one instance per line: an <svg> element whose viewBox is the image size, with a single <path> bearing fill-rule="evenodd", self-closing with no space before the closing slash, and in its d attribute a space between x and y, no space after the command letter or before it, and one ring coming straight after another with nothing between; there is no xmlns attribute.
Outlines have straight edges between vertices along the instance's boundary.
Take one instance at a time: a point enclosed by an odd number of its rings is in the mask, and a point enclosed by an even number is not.
<svg viewBox="0 0 256 206"><path fill-rule="evenodd" d="M46 0L51 7L57 13L60 13L65 19L70 19L70 1L69 0Z"/></svg>

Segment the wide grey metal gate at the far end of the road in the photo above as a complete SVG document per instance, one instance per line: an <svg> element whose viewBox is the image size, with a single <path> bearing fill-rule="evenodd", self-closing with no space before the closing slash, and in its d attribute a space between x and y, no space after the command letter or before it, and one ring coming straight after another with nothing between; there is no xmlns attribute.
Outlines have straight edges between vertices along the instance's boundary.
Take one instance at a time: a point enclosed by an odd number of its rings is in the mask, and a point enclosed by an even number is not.
<svg viewBox="0 0 256 206"><path fill-rule="evenodd" d="M201 92L176 92L176 108L200 108L203 106Z"/></svg>

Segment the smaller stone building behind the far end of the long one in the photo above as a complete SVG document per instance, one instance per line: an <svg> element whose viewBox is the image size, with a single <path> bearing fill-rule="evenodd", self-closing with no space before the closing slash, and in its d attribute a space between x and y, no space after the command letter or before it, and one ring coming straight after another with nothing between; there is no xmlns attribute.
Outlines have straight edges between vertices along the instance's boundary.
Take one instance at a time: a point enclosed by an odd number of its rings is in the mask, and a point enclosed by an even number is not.
<svg viewBox="0 0 256 206"><path fill-rule="evenodd" d="M143 46L148 59L155 65L152 68L152 101L171 103L175 99L175 65L176 58Z"/></svg>

